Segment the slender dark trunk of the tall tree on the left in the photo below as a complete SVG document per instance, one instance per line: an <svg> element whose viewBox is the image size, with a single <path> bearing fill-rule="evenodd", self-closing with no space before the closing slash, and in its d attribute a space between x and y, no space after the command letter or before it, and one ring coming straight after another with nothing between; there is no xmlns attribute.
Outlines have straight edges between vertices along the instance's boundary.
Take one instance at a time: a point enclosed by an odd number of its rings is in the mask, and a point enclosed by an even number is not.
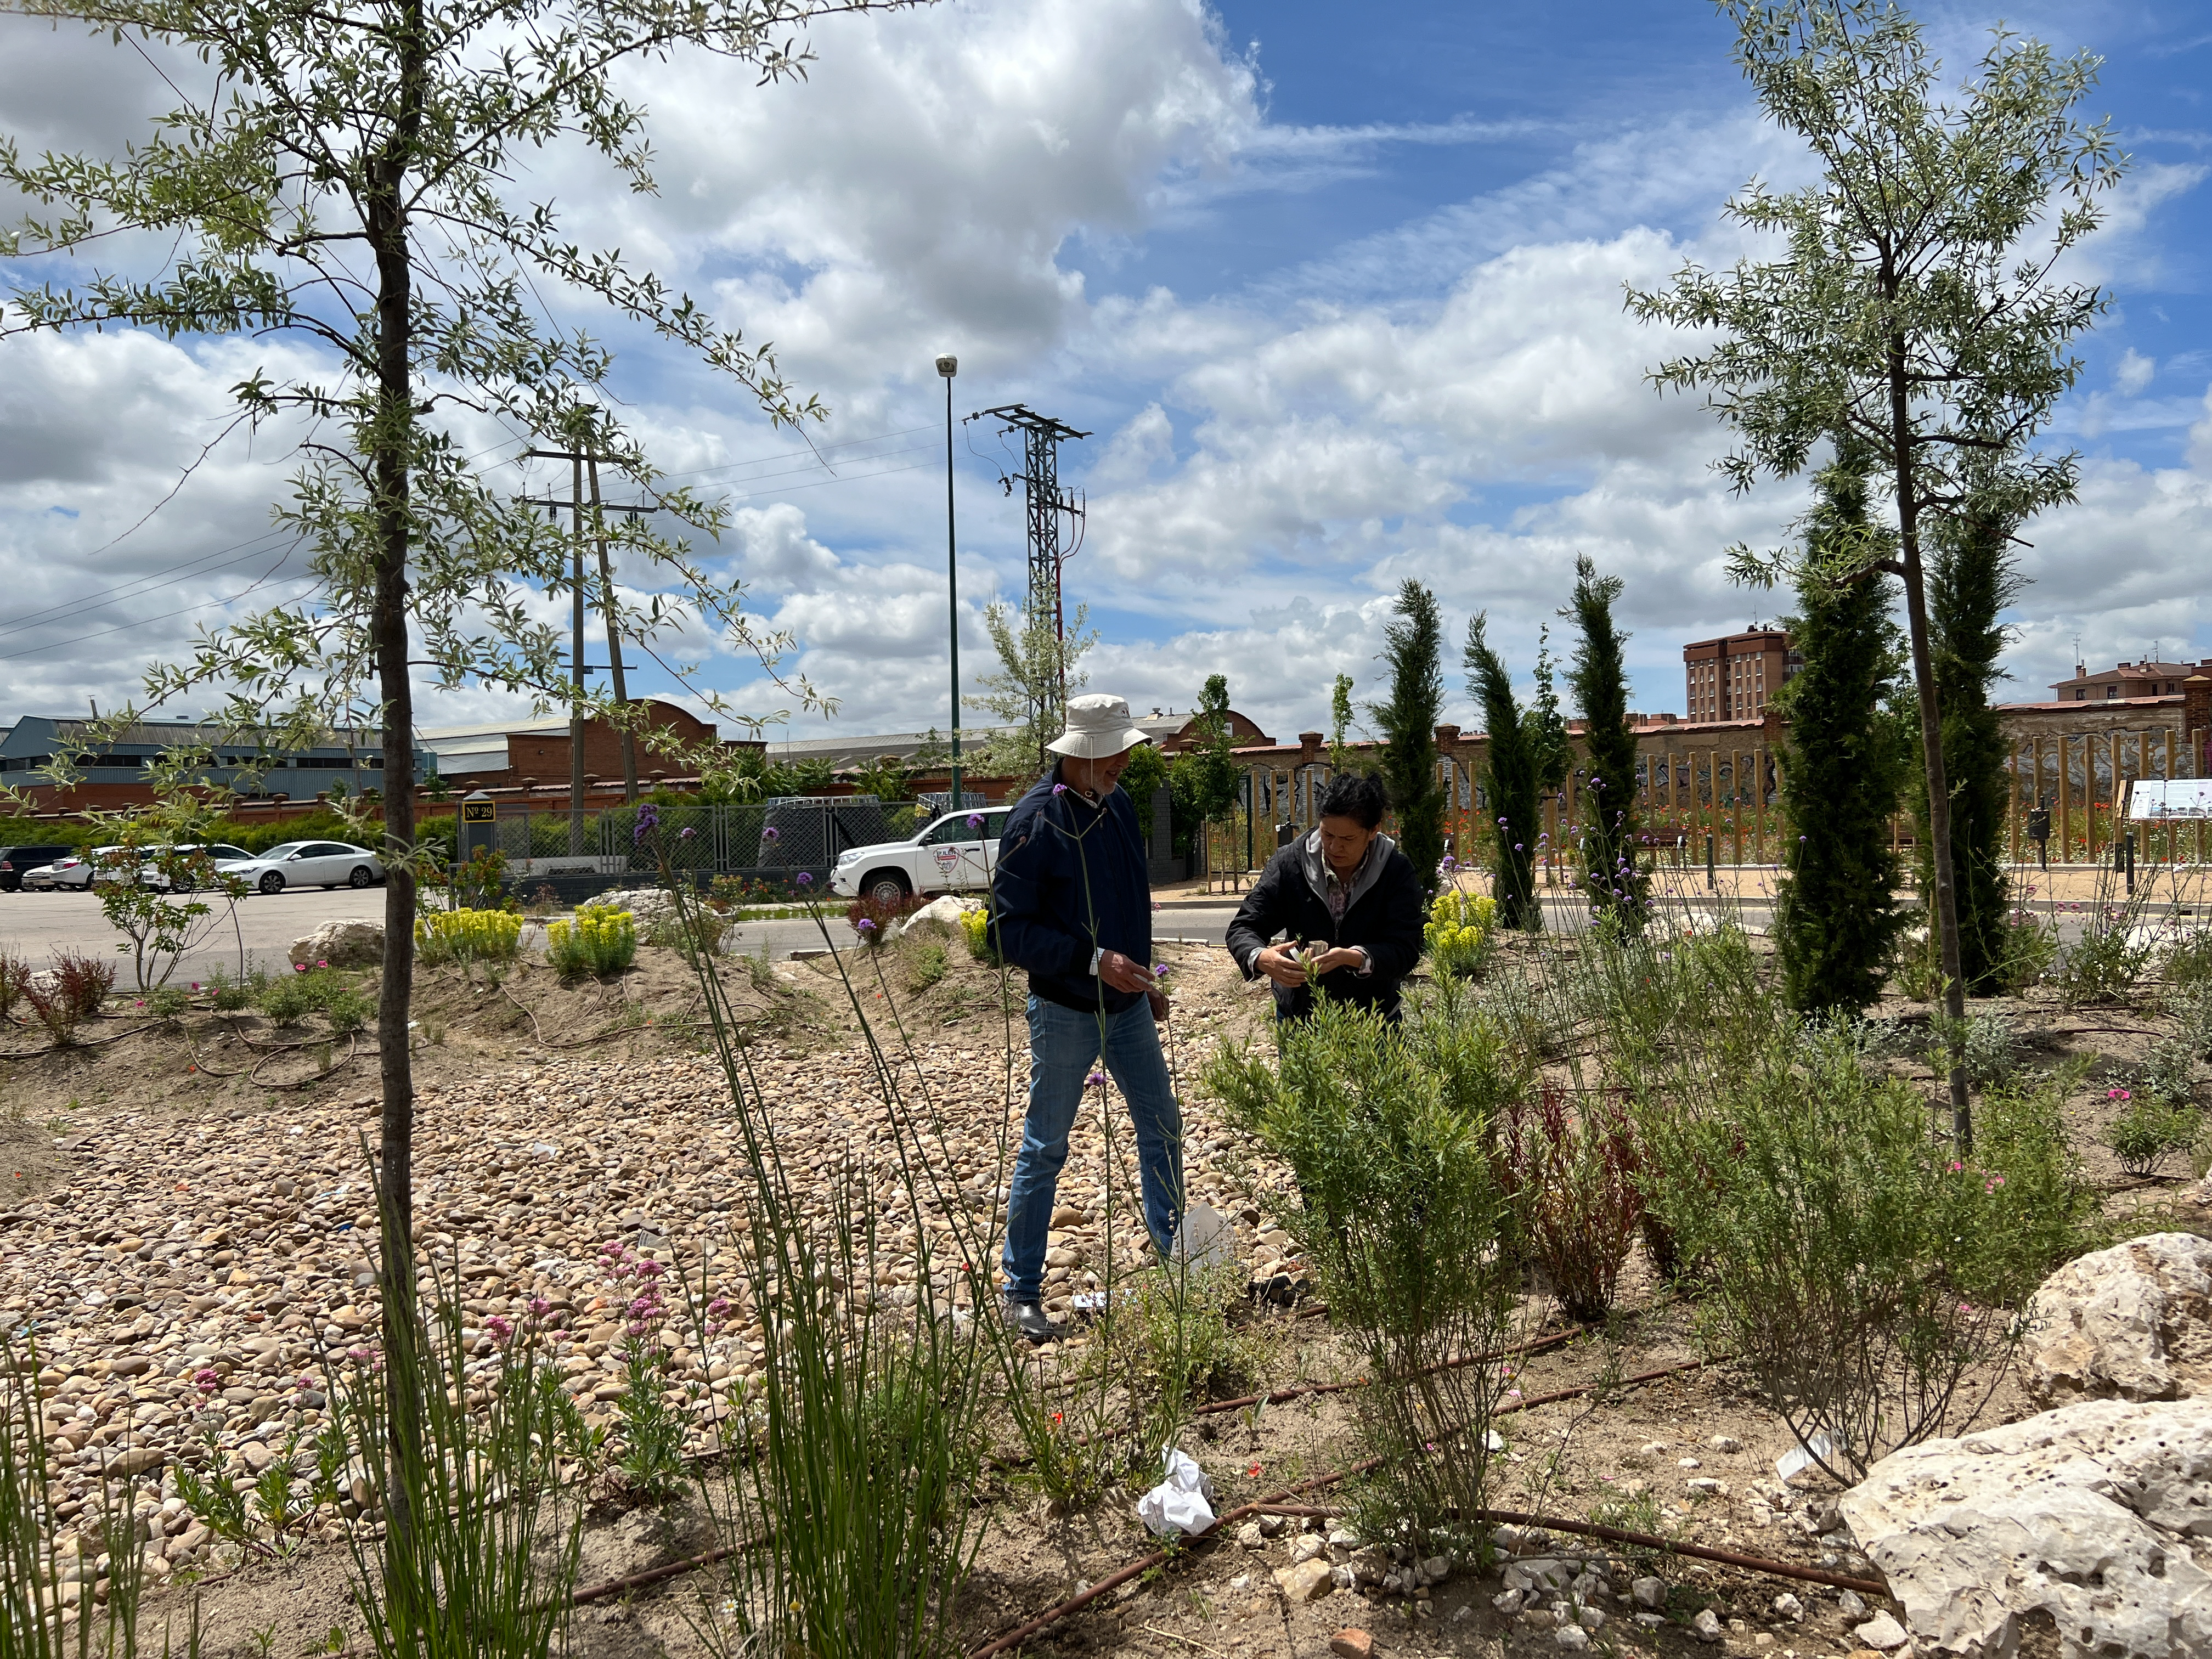
<svg viewBox="0 0 2212 1659"><path fill-rule="evenodd" d="M422 1467L422 1374L416 1352L414 1261L414 1057L407 1015L414 1002L416 920L416 794L414 794L414 686L407 675L407 546L409 469L414 465L411 261L407 250L405 184L422 119L422 11L403 7L398 38L400 115L385 155L376 161L367 199L369 246L376 254L376 422L369 473L376 511L376 602L369 633L376 641L378 692L385 723L385 973L376 998L376 1057L383 1079L383 1121L376 1157L378 1294L385 1347L385 1517L387 1555L411 1548L409 1471ZM387 1590L411 1573L385 1575ZM392 1608L411 1628L414 1608Z"/></svg>

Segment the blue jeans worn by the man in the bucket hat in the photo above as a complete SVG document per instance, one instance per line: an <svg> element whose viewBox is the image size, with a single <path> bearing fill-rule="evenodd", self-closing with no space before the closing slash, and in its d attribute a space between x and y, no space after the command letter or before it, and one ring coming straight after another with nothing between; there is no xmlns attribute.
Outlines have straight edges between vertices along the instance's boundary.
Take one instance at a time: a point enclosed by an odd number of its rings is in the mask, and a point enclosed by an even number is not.
<svg viewBox="0 0 2212 1659"><path fill-rule="evenodd" d="M1159 1053L1159 1026L1139 1002L1121 1013L1077 1013L1042 998L1029 1000L1029 1117L1013 1159L1006 1197L1006 1301L1033 1303L1044 1294L1044 1234L1053 1223L1060 1166L1068 1161L1068 1130L1084 1104L1084 1077L1099 1057L1128 1102L1137 1128L1137 1172L1144 1181L1144 1225L1159 1254L1175 1243L1183 1214L1183 1115Z"/></svg>

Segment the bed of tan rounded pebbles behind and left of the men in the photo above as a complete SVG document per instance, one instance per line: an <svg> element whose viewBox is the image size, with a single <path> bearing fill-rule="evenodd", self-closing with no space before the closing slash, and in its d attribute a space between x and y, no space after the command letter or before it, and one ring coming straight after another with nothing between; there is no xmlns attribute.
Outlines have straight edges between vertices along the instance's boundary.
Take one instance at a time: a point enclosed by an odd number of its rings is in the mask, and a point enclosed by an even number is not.
<svg viewBox="0 0 2212 1659"><path fill-rule="evenodd" d="M754 1068L792 1201L818 1232L845 1225L836 1194L854 1183L836 1177L867 1170L876 1296L916 1305L918 1239L867 1055ZM927 1294L940 1310L969 1298L958 1283L962 1248L998 1219L1020 1135L1020 1068L1009 1088L995 1053L953 1044L922 1044L905 1068L902 1110L929 1157L920 1221L933 1234ZM1119 1168L1110 1206L1095 1106L1060 1181L1046 1259L1055 1312L1097 1285L1108 1217L1117 1270L1146 1250L1119 1099L1110 1110ZM60 1139L77 1159L66 1186L0 1212L0 1329L18 1365L24 1338L35 1340L49 1498L64 1524L88 1502L97 1513L104 1489L119 1498L128 1486L157 1579L239 1559L190 1513L175 1467L246 1484L288 1442L299 1467L312 1467L305 1447L327 1416L332 1374L376 1338L365 1144L376 1144L374 1097L223 1119L117 1115ZM1256 1279L1296 1276L1290 1239L1265 1219L1283 1172L1210 1121L1206 1102L1186 1106L1186 1179L1192 1203L1232 1219ZM617 1427L635 1294L611 1270L611 1243L666 1265L668 1318L653 1336L679 1389L695 1396L695 1449L710 1442L732 1391L759 1374L761 1327L741 1254L750 1199L743 1137L712 1057L580 1057L416 1102L422 1283L434 1283L436 1265L436 1283L458 1287L471 1374L495 1369L495 1338L533 1312L564 1387L595 1425ZM712 1298L726 1298L723 1325L703 1340L695 1314ZM77 1524L91 1531L88 1517ZM330 1537L341 1524L323 1511L303 1531ZM95 1582L95 1546L82 1544L82 1564L77 1548L64 1533L58 1577L69 1601L80 1579Z"/></svg>

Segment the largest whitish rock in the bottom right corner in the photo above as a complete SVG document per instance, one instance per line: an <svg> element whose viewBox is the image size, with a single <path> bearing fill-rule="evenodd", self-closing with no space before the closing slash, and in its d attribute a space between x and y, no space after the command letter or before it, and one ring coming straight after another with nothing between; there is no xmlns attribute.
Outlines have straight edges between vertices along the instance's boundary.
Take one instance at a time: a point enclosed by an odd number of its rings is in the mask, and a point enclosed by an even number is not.
<svg viewBox="0 0 2212 1659"><path fill-rule="evenodd" d="M2212 1655L2212 1400L2086 1400L1882 1458L1843 1517L1920 1652Z"/></svg>

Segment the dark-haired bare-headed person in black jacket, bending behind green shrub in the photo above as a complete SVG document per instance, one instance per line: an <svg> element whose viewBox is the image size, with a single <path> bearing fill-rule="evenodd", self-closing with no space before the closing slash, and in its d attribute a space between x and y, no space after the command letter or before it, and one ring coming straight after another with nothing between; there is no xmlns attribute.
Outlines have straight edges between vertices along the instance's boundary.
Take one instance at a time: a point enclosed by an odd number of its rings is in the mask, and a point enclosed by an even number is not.
<svg viewBox="0 0 2212 1659"><path fill-rule="evenodd" d="M1321 799L1321 825L1267 860L1230 922L1230 956L1248 980L1274 980L1279 1020L1312 1013L1314 978L1340 1002L1398 1018L1427 896L1413 860L1380 830L1385 805L1380 779L1340 772ZM1272 942L1279 933L1283 945Z"/></svg>

